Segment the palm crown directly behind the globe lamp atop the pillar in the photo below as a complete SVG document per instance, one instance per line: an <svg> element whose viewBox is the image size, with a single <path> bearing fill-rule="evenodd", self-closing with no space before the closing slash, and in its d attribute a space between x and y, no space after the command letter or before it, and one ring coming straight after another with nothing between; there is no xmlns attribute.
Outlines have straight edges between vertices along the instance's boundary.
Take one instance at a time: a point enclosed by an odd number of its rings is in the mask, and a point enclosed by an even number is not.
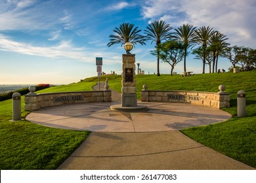
<svg viewBox="0 0 256 183"><path fill-rule="evenodd" d="M146 44L146 37L140 35L141 30L138 27L134 27L134 24L123 23L119 27L115 27L114 32L116 35L110 35L110 42L107 46L110 47L113 44L120 44L123 46L126 42L131 42L133 46L139 43L141 45Z"/></svg>

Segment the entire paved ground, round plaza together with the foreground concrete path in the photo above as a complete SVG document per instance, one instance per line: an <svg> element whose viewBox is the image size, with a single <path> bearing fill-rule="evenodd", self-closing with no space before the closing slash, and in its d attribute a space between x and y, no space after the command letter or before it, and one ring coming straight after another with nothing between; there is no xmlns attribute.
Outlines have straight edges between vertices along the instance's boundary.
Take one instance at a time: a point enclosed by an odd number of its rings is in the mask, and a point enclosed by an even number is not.
<svg viewBox="0 0 256 183"><path fill-rule="evenodd" d="M92 131L58 169L253 169L178 131L225 121L227 112L181 103L140 103L148 110L117 112L110 105L120 103L121 94L112 91L112 101L45 108L26 119Z"/></svg>

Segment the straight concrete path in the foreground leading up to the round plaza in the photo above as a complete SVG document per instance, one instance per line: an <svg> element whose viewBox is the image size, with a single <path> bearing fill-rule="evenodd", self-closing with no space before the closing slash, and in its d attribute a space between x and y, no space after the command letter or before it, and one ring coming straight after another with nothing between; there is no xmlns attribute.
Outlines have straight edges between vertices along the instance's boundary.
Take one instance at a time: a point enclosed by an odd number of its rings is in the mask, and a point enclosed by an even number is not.
<svg viewBox="0 0 256 183"><path fill-rule="evenodd" d="M253 169L186 137L180 131L92 132L60 167L68 170Z"/></svg>

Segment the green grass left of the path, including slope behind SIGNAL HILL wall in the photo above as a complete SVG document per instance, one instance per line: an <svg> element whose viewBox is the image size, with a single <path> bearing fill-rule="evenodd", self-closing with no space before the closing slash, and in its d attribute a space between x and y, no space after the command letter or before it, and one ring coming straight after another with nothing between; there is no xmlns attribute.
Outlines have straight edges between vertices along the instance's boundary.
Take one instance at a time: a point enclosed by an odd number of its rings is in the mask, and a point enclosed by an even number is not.
<svg viewBox="0 0 256 183"><path fill-rule="evenodd" d="M55 86L37 93L88 91L96 82ZM24 110L22 96L22 118ZM89 135L89 131L55 129L12 119L12 100L0 102L0 169L56 169Z"/></svg>

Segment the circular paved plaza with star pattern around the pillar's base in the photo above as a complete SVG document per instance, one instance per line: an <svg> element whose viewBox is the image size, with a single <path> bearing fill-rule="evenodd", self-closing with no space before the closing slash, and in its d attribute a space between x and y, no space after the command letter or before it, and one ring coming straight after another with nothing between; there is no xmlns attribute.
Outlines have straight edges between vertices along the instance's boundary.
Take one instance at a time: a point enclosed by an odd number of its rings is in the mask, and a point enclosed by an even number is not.
<svg viewBox="0 0 256 183"><path fill-rule="evenodd" d="M26 120L62 129L104 132L172 131L223 122L228 112L186 103L139 103L148 110L120 112L110 110L118 103L62 105L31 112Z"/></svg>

